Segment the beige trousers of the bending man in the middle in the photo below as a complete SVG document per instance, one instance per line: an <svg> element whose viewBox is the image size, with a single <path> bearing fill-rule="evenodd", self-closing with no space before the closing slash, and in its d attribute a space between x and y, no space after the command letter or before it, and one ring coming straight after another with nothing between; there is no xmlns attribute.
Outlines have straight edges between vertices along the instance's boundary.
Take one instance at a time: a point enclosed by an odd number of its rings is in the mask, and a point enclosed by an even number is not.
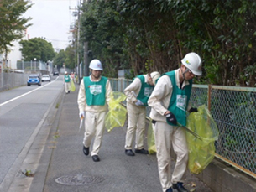
<svg viewBox="0 0 256 192"><path fill-rule="evenodd" d="M144 148L144 132L146 124L146 107L127 103L128 128L125 138L125 149L133 148L133 138L136 131L135 149Z"/></svg>

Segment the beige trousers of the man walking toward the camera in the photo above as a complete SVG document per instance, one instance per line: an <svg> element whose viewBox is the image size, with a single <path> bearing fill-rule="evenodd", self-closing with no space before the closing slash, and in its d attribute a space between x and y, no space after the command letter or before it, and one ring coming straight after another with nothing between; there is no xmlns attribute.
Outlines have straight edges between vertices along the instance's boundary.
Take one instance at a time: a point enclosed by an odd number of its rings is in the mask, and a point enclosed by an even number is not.
<svg viewBox="0 0 256 192"><path fill-rule="evenodd" d="M102 146L105 115L106 112L86 112L83 144L86 148L89 148L91 146L92 138L95 137L91 150L91 156L97 155Z"/></svg>

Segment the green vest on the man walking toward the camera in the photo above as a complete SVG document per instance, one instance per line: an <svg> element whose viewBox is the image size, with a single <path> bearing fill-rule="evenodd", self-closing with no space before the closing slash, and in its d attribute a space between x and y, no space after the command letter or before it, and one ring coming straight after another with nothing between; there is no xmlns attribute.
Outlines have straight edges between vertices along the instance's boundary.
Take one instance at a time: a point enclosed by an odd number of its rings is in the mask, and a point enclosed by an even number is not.
<svg viewBox="0 0 256 192"><path fill-rule="evenodd" d="M86 104L88 106L104 106L106 102L107 77L102 76L100 81L94 82L85 76Z"/></svg>

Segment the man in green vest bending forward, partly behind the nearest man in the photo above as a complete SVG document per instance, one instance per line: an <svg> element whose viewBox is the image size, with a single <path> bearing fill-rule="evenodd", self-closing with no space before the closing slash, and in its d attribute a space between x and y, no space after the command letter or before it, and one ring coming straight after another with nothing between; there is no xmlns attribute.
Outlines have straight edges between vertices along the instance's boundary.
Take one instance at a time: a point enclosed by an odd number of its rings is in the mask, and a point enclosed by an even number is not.
<svg viewBox="0 0 256 192"><path fill-rule="evenodd" d="M135 153L149 154L144 149L144 131L146 125L146 106L154 89L155 81L160 74L157 71L147 75L138 75L133 82L125 88L127 96L128 128L125 138L125 154L134 156ZM135 153L133 153L133 138L136 132Z"/></svg>

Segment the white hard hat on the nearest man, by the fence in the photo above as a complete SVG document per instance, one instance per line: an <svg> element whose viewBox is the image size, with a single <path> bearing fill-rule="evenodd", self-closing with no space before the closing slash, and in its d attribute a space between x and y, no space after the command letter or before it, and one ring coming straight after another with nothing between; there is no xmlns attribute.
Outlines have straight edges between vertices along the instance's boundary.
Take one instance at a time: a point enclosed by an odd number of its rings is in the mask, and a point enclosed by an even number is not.
<svg viewBox="0 0 256 192"><path fill-rule="evenodd" d="M201 76L201 57L191 52L189 54L185 54L185 57L181 60L181 63L185 65L185 67L194 75Z"/></svg>

